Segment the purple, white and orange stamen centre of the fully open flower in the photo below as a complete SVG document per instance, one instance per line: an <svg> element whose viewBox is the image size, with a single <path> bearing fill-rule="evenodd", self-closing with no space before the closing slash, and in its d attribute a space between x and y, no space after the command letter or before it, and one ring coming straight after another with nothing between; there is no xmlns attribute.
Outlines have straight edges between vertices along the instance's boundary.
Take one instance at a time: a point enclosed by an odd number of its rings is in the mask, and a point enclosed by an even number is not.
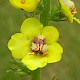
<svg viewBox="0 0 80 80"><path fill-rule="evenodd" d="M47 44L45 43L45 39L42 35L38 37L34 37L31 44L32 54L45 56L48 54L47 52Z"/></svg>

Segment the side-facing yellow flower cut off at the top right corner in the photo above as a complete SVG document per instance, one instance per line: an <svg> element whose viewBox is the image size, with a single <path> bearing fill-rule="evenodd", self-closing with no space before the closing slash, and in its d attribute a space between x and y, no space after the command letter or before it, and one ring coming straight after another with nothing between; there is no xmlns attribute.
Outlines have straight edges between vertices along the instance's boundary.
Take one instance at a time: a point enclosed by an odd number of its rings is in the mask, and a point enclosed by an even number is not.
<svg viewBox="0 0 80 80"><path fill-rule="evenodd" d="M73 20L77 21L80 24L80 20L74 17L77 13L75 4L71 0L59 0L61 4L61 10L65 16L67 16L68 20L73 23Z"/></svg>

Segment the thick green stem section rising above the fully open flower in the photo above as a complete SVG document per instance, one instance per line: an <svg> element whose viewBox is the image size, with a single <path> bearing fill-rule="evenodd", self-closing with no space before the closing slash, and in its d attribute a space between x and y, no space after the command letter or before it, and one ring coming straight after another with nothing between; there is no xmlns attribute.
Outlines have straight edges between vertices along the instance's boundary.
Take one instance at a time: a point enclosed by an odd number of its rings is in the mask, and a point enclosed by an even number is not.
<svg viewBox="0 0 80 80"><path fill-rule="evenodd" d="M46 26L49 22L50 0L42 0L43 11L40 14L40 22Z"/></svg>

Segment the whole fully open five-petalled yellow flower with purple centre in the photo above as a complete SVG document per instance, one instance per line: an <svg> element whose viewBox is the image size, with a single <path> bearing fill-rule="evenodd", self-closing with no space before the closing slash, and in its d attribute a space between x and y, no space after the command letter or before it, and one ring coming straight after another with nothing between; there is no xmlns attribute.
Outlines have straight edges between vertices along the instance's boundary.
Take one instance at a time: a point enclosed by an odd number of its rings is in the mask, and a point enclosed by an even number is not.
<svg viewBox="0 0 80 80"><path fill-rule="evenodd" d="M55 27L43 27L36 18L28 18L21 26L21 33L11 37L8 48L14 58L21 59L30 70L35 70L60 61L63 49L57 43L58 38Z"/></svg>

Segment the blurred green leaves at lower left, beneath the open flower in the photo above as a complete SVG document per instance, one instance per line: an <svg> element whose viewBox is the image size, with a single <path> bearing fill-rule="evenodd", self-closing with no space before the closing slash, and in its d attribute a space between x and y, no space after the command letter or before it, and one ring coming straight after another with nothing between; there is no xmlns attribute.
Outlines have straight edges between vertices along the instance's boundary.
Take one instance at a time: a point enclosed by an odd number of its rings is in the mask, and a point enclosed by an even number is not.
<svg viewBox="0 0 80 80"><path fill-rule="evenodd" d="M12 70L19 75L31 75L31 71L25 65L23 65L20 60L13 59L11 64L14 66L11 67L7 72Z"/></svg>

